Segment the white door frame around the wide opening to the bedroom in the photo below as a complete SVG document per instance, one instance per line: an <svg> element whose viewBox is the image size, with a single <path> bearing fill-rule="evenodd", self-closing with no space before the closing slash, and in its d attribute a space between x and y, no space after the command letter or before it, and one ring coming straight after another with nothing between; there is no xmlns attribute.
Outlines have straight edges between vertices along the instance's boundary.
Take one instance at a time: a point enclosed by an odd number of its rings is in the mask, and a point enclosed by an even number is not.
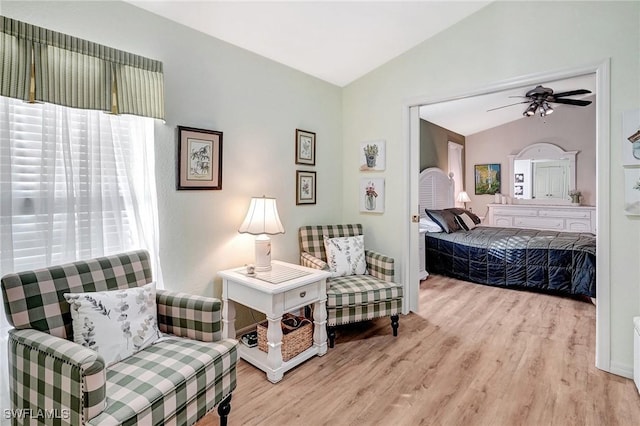
<svg viewBox="0 0 640 426"><path fill-rule="evenodd" d="M459 93L440 97L421 96L409 99L403 103L403 137L405 140L405 193L404 209L408 220L403 238L403 252L405 254L404 276L406 283L406 309L418 312L420 284L418 280L418 176L420 159L420 114L422 105L437 104L462 98L484 95L508 89L528 87L540 81L561 80L594 74L596 79L596 347L595 365L597 368L611 371L611 220L609 182L611 173L610 163L610 59L587 64L581 67L542 72L515 77L484 87L464 90ZM624 372L614 372L624 374Z"/></svg>

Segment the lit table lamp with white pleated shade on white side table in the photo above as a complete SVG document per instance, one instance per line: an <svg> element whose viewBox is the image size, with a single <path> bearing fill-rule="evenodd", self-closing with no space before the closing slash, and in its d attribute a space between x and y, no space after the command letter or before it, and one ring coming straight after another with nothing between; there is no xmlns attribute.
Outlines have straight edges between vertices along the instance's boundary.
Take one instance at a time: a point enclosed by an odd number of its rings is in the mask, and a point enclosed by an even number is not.
<svg viewBox="0 0 640 426"><path fill-rule="evenodd" d="M284 234L284 227L278 217L275 198L251 198L247 217L240 225L241 234L257 235L256 237L256 271L271 270L271 238L269 235Z"/></svg>

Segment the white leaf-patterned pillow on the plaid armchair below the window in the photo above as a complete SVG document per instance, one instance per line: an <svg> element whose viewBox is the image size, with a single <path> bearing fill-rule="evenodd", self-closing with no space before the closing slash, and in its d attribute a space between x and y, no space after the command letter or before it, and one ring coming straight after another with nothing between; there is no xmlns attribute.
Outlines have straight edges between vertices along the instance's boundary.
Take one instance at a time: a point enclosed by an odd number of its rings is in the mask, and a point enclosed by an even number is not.
<svg viewBox="0 0 640 426"><path fill-rule="evenodd" d="M65 293L76 343L97 351L107 366L160 338L156 284L124 290Z"/></svg>

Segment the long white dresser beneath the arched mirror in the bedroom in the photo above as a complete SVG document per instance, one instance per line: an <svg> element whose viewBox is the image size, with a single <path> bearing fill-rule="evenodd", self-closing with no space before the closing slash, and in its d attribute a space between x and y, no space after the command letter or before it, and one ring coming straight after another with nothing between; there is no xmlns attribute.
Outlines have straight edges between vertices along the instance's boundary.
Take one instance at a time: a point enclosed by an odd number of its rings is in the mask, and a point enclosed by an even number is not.
<svg viewBox="0 0 640 426"><path fill-rule="evenodd" d="M489 226L596 233L594 206L489 204L488 207Z"/></svg>

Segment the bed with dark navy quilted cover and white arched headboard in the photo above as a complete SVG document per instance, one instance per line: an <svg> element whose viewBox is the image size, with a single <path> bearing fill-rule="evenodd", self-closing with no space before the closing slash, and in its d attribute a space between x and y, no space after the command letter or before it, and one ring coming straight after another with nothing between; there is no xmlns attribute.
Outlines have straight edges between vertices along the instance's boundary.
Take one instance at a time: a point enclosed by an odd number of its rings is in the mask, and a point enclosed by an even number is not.
<svg viewBox="0 0 640 426"><path fill-rule="evenodd" d="M453 200L451 176L437 168L420 173L421 227L433 219L426 210L446 210L454 206ZM482 225L470 228L424 233L429 273L491 286L595 298L595 235Z"/></svg>

